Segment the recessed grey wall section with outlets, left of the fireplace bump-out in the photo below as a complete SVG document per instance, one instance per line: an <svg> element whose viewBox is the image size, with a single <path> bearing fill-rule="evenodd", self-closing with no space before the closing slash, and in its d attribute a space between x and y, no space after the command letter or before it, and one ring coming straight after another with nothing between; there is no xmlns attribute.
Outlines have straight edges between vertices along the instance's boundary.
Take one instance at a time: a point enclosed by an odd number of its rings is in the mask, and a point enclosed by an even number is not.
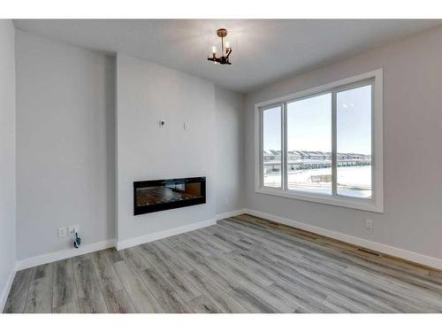
<svg viewBox="0 0 442 332"><path fill-rule="evenodd" d="M17 256L115 236L114 59L17 30Z"/></svg>

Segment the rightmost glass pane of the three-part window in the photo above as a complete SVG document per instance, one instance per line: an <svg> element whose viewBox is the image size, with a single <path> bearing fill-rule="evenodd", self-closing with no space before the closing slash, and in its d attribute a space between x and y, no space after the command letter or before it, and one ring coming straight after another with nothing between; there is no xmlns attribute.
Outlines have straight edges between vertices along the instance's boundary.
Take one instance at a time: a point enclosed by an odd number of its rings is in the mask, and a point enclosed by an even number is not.
<svg viewBox="0 0 442 332"><path fill-rule="evenodd" d="M371 85L336 95L337 193L371 197Z"/></svg>

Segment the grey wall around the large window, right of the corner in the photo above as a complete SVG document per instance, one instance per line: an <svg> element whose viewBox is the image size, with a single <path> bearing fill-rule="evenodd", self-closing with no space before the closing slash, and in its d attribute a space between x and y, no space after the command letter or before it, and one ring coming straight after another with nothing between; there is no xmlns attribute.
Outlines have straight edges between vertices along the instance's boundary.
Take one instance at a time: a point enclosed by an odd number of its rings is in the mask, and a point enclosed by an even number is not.
<svg viewBox="0 0 442 332"><path fill-rule="evenodd" d="M247 207L442 258L442 28L280 81L247 96ZM385 213L256 194L254 104L384 68ZM362 228L365 219L374 229Z"/></svg>

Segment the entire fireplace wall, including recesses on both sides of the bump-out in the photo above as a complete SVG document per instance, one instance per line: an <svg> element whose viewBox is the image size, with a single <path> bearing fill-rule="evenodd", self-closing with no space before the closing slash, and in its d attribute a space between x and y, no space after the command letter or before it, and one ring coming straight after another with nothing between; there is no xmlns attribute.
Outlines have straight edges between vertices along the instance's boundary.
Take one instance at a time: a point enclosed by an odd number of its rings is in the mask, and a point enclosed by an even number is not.
<svg viewBox="0 0 442 332"><path fill-rule="evenodd" d="M240 94L136 58L121 56L116 66L21 30L16 51L18 259L71 248L58 227L79 224L85 245L115 238L117 206L120 240L243 207ZM219 168L217 150L228 161ZM133 217L134 180L202 174L207 205Z"/></svg>

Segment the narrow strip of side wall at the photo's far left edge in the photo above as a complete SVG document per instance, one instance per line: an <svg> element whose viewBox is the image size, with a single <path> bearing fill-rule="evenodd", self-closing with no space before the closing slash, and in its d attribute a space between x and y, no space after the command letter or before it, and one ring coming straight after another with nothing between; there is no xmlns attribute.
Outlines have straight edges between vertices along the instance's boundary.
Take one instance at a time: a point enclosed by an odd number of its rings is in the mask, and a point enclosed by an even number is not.
<svg viewBox="0 0 442 332"><path fill-rule="evenodd" d="M10 19L0 19L0 309L15 264L14 54L14 27Z"/></svg>

